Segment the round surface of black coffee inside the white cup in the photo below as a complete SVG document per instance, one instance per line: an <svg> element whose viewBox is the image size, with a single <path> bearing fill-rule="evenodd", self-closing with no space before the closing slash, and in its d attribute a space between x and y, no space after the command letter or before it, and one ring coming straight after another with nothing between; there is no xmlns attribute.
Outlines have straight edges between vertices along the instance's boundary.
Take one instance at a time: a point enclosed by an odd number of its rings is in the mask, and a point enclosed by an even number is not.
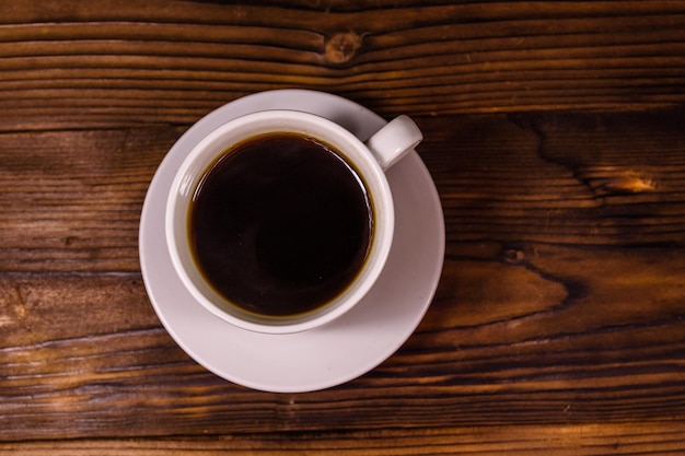
<svg viewBox="0 0 685 456"><path fill-rule="evenodd" d="M189 218L195 259L231 303L267 316L311 312L364 262L373 211L362 179L310 138L275 133L227 151Z"/></svg>

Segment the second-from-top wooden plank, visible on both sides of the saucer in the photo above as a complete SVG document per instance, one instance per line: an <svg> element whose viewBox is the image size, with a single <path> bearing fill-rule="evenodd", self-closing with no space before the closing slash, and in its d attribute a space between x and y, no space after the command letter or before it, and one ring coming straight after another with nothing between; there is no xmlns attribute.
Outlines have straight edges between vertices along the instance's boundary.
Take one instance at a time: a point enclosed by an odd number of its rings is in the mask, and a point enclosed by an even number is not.
<svg viewBox="0 0 685 456"><path fill-rule="evenodd" d="M685 114L419 117L462 243L685 244ZM0 271L138 272L138 222L183 128L0 135Z"/></svg>

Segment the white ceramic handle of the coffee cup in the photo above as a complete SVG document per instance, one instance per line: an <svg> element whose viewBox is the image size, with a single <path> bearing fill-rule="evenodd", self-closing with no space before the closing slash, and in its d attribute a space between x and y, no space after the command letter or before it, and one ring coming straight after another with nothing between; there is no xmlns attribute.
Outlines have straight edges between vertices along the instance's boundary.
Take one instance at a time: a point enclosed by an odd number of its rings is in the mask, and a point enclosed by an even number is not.
<svg viewBox="0 0 685 456"><path fill-rule="evenodd" d="M423 133L409 116L398 116L387 122L365 142L381 167L385 171L423 139Z"/></svg>

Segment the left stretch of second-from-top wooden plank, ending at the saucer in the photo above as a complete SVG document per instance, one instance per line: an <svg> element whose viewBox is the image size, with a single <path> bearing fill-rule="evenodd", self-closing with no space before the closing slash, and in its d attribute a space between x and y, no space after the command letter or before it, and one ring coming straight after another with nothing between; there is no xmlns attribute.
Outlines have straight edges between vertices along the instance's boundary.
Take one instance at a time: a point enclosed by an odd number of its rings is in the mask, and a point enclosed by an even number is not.
<svg viewBox="0 0 685 456"><path fill-rule="evenodd" d="M144 195L181 132L1 135L0 271L138 272Z"/></svg>

